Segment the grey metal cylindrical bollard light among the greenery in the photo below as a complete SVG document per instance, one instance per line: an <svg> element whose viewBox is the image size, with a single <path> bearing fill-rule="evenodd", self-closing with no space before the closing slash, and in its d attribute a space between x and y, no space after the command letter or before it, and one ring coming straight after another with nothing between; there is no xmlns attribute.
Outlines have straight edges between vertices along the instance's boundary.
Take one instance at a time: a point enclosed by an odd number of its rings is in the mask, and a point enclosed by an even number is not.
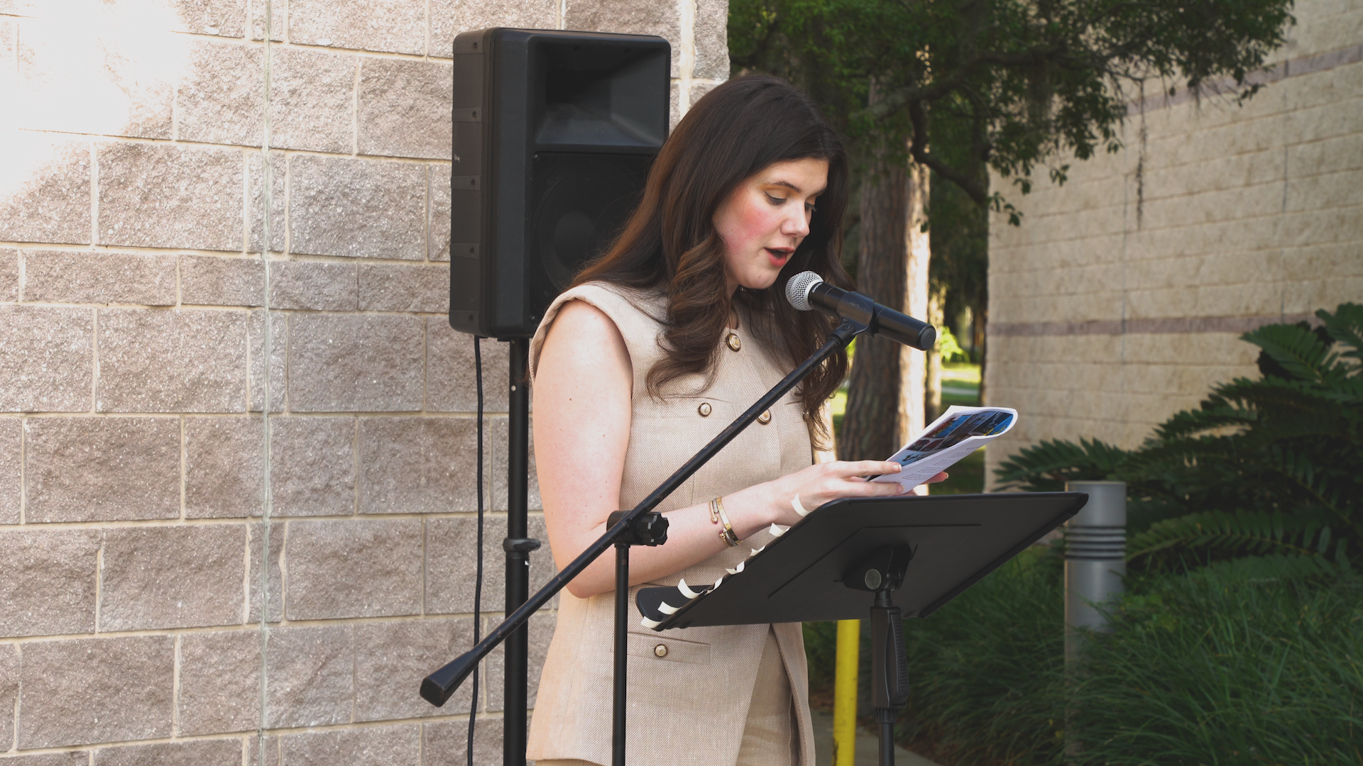
<svg viewBox="0 0 1363 766"><path fill-rule="evenodd" d="M1099 609L1124 590L1126 482L1070 481L1067 492L1088 492L1089 502L1065 523L1065 660L1078 653L1074 628L1109 630Z"/></svg>

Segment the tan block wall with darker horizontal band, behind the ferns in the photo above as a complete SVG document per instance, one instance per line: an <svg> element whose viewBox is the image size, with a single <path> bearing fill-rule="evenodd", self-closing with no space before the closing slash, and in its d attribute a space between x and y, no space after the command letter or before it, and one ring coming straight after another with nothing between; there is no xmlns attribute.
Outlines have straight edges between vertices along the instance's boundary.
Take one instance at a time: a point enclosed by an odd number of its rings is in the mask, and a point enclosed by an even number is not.
<svg viewBox="0 0 1363 766"><path fill-rule="evenodd" d="M1243 106L1150 83L1119 154L1028 196L994 179L1025 217L991 221L987 398L1022 414L991 480L1041 439L1138 446L1258 375L1240 333L1363 300L1363 7L1293 14Z"/></svg>

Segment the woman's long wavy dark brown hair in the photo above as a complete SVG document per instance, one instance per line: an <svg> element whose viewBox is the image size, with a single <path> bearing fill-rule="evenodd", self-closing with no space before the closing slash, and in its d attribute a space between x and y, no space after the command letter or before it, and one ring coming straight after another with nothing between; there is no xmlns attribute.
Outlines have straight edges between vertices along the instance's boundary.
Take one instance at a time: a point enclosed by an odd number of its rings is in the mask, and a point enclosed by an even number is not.
<svg viewBox="0 0 1363 766"><path fill-rule="evenodd" d="M740 288L732 296L752 319L751 331L795 367L827 338L833 320L796 311L784 296L786 281L816 271L851 288L842 270L842 213L848 202L848 161L842 142L818 106L780 78L747 75L705 94L658 151L639 207L615 244L574 281L609 282L667 294L664 357L647 372L653 395L671 380L699 373L713 380L720 339L732 311L724 277L724 241L714 213L733 189L774 162L826 159L827 188L819 196L810 234L765 290ZM819 408L848 371L838 353L799 388L806 420L827 436ZM709 384L709 383L707 383Z"/></svg>

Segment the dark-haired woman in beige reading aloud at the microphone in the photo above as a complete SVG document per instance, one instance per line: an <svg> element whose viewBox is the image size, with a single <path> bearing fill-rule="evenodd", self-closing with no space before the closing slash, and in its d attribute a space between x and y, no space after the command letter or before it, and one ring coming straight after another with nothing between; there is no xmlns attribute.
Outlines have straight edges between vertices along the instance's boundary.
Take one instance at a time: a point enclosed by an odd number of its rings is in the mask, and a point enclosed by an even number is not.
<svg viewBox="0 0 1363 766"><path fill-rule="evenodd" d="M846 285L846 185L837 134L780 79L731 80L682 120L619 240L530 345L536 463L560 567L826 339L830 319L795 311L782 289L804 270ZM771 540L771 523L900 492L857 478L895 463L814 461L846 367L845 354L830 358L658 506L668 542L634 549L631 585L714 582ZM527 756L541 766L611 763L609 559L560 597L530 726ZM812 766L799 624L635 627L628 646L630 763Z"/></svg>

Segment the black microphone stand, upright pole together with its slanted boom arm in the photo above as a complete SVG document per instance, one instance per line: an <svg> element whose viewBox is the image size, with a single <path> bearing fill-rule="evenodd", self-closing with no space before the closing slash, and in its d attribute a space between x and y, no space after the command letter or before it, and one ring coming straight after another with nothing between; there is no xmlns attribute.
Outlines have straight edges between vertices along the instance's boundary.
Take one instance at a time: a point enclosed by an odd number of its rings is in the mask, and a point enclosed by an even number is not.
<svg viewBox="0 0 1363 766"><path fill-rule="evenodd" d="M867 328L867 323L842 318L838 326L829 334L827 341L819 346L819 350L814 352L810 358L804 360L799 367L792 369L789 375L782 378L781 382L763 394L756 403L725 427L718 436L702 447L701 451L687 461L686 465L679 468L676 473L662 481L662 484L649 493L647 497L639 502L638 506L627 512L616 511L611 514L609 521L607 522L609 529L607 529L605 534L589 545L586 551L559 571L559 574L553 575L553 578L551 578L549 582L538 590L538 593L517 607L517 609L511 612L511 615L508 615L500 626L489 631L477 646L423 679L423 699L436 707L443 706L455 690L459 688L459 684L462 684L463 680L473 673L478 661L487 657L488 653L491 653L499 643L514 637L517 631L525 626L526 620L530 619L530 615L540 611L540 608L542 608L549 598L553 598L559 590L563 590L563 586L581 574L582 570L587 568L592 562L601 556L601 553L605 553L611 547L615 547L615 702L612 763L613 766L624 766L626 635L630 611L630 547L661 545L665 542L668 521L662 517L662 514L654 512L653 508L657 507L657 504L661 503L668 495L682 487L682 484L690 478L691 474L701 469L701 466L710 462L710 458L718 454L720 450L741 433L744 428L751 425L758 416L776 405L781 397L804 380L815 367L822 364L823 360L829 358L838 349L846 348L846 345L852 342L852 338L857 337ZM511 698L508 696L507 699L510 703ZM523 699L525 698L521 696L522 710L525 709ZM507 707L507 710L510 710L510 707ZM523 741L525 740L522 739L521 743ZM503 754L503 758L506 758L506 754ZM523 759L525 748L522 744L519 762L523 762Z"/></svg>

